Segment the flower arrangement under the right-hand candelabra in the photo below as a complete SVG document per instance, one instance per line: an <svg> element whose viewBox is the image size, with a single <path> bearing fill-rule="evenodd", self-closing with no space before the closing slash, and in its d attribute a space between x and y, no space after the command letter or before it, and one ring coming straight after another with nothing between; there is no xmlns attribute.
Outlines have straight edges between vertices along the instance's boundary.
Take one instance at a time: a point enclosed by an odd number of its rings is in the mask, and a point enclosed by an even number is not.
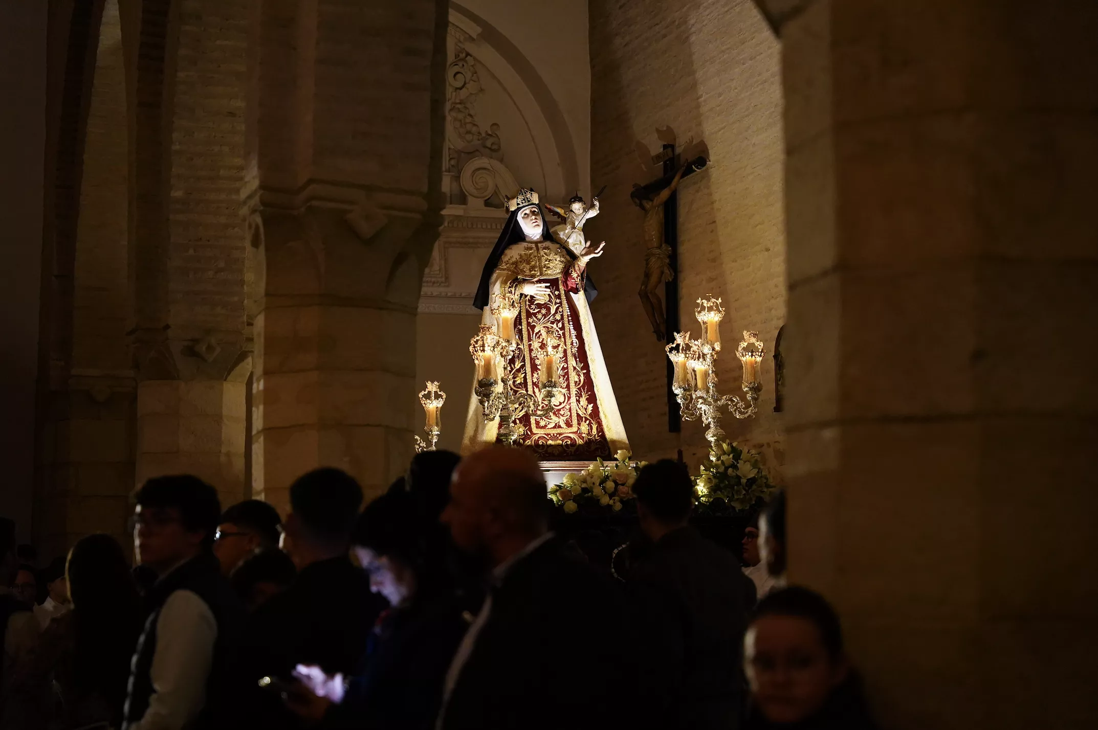
<svg viewBox="0 0 1098 730"><path fill-rule="evenodd" d="M713 446L694 483L698 507L713 513L750 509L776 488L758 451L727 441Z"/></svg>

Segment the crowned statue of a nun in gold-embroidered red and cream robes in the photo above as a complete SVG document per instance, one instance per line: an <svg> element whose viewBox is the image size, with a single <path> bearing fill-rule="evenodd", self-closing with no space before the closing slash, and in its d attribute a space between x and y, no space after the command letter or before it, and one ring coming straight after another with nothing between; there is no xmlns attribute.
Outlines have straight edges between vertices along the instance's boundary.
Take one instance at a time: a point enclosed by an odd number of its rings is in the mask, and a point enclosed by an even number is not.
<svg viewBox="0 0 1098 730"><path fill-rule="evenodd" d="M547 379L557 384L549 405L518 411L515 445L542 461L609 458L629 446L589 306L597 292L587 262L602 255L605 243L587 245L582 233L554 240L531 190L520 191L507 207L473 306L483 312L482 334L491 330L513 342L493 366L502 388L538 397ZM474 392L462 452L494 443L498 426L497 417L484 419Z"/></svg>

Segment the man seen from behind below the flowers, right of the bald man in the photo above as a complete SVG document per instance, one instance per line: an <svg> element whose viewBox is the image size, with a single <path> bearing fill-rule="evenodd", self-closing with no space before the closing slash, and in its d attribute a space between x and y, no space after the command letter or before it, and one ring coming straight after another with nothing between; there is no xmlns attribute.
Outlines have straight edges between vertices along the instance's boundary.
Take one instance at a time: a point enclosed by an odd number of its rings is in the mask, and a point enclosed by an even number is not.
<svg viewBox="0 0 1098 730"><path fill-rule="evenodd" d="M672 692L672 726L681 730L740 727L741 652L754 584L731 552L687 526L694 487L682 463L664 459L634 484L640 528L652 546L630 586L660 639Z"/></svg>

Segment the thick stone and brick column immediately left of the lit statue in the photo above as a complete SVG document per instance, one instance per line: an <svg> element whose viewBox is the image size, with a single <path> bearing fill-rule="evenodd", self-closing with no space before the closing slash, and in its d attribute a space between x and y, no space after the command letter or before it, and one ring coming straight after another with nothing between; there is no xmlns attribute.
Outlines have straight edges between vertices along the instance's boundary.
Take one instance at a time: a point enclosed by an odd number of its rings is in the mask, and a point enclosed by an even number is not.
<svg viewBox="0 0 1098 730"><path fill-rule="evenodd" d="M415 311L438 236L448 5L264 5L253 473L281 509L413 453Z"/></svg>

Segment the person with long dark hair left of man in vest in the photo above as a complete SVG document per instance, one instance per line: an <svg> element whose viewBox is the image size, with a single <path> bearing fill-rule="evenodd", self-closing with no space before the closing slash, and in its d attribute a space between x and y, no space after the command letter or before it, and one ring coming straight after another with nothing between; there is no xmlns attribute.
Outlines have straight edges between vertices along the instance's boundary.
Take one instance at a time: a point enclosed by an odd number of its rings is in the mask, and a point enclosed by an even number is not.
<svg viewBox="0 0 1098 730"><path fill-rule="evenodd" d="M141 631L141 599L122 547L91 535L69 552L65 570L72 610L55 618L22 675L27 692L52 678L60 707L52 727L120 727L130 661Z"/></svg>

